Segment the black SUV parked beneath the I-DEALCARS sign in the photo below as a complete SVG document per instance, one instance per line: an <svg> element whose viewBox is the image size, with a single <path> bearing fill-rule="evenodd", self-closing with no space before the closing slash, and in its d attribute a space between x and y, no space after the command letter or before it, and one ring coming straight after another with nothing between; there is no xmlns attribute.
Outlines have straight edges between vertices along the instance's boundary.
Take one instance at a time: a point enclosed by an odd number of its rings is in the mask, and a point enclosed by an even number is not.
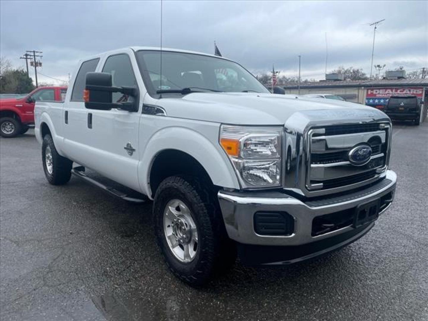
<svg viewBox="0 0 428 321"><path fill-rule="evenodd" d="M421 107L416 96L391 96L383 112L392 120L413 120L419 125Z"/></svg>

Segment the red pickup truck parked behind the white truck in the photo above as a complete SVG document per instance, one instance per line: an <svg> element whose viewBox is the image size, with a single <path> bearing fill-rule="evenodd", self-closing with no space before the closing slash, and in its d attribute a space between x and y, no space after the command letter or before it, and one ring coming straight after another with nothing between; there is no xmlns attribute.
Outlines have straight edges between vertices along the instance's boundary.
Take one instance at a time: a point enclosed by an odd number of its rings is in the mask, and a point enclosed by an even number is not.
<svg viewBox="0 0 428 321"><path fill-rule="evenodd" d="M67 87L39 87L24 98L0 99L0 135L15 137L34 128L36 101L64 101Z"/></svg>

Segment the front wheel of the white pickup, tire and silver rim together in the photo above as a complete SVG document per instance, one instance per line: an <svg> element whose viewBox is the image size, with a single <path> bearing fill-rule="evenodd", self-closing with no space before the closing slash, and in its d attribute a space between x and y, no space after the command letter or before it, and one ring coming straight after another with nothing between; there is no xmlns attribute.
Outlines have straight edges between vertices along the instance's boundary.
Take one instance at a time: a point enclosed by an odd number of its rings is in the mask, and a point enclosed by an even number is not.
<svg viewBox="0 0 428 321"><path fill-rule="evenodd" d="M203 285L235 262L216 193L196 178L172 176L158 187L155 235L166 265L190 285Z"/></svg>

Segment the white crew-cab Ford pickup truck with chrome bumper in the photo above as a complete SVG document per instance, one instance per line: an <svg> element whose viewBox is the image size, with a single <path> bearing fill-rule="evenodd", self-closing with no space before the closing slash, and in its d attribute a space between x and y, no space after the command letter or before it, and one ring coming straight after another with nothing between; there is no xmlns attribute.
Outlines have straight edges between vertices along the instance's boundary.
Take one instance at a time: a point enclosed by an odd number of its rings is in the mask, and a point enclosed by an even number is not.
<svg viewBox="0 0 428 321"><path fill-rule="evenodd" d="M49 183L73 173L122 199L153 200L166 264L192 285L237 255L286 265L344 247L394 197L384 113L271 94L218 56L98 54L80 61L65 101L38 101L35 117Z"/></svg>

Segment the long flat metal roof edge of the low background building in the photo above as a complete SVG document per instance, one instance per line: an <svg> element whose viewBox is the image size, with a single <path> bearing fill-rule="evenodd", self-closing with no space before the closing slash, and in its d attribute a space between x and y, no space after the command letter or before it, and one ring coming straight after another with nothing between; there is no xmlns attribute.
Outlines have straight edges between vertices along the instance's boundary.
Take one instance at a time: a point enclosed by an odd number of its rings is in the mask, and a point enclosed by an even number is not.
<svg viewBox="0 0 428 321"><path fill-rule="evenodd" d="M278 84L284 89L297 89L297 83ZM428 87L428 78L425 79L379 79L379 80L336 80L300 83L300 88L351 88L351 87L397 87L422 86Z"/></svg>

